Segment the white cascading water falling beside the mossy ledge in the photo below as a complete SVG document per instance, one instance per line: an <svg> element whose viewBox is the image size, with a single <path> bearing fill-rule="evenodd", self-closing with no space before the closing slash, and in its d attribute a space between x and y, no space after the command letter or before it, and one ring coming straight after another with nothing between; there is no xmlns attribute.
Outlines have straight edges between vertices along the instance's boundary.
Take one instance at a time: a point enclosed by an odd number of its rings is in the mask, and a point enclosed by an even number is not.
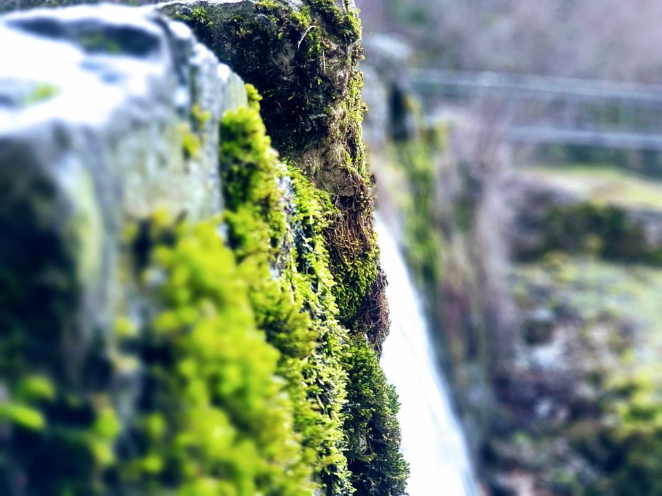
<svg viewBox="0 0 662 496"><path fill-rule="evenodd" d="M421 304L397 243L377 220L391 330L381 365L401 402L402 451L410 496L478 496L468 448L433 357Z"/></svg>

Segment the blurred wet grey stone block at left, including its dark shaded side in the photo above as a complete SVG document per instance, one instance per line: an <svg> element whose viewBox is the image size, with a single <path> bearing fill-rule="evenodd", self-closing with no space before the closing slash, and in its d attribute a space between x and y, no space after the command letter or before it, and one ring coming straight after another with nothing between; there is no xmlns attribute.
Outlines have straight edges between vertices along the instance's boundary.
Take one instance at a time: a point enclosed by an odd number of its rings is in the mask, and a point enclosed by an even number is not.
<svg viewBox="0 0 662 496"><path fill-rule="evenodd" d="M137 300L121 230L159 206L219 211L218 125L245 94L146 10L12 14L0 38L21 48L0 52L0 493L108 494L135 379L114 345Z"/></svg>

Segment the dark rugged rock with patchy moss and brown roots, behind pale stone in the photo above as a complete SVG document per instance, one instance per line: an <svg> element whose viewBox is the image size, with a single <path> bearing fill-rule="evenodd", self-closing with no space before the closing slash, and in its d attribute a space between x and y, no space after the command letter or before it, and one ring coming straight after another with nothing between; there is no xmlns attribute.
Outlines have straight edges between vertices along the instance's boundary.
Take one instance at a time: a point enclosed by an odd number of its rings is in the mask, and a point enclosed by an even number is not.
<svg viewBox="0 0 662 496"><path fill-rule="evenodd" d="M274 147L330 194L324 235L341 322L379 347L386 318L369 304L383 297L383 285L375 286L379 251L361 142L357 10L332 0L174 1L162 8L257 87Z"/></svg>

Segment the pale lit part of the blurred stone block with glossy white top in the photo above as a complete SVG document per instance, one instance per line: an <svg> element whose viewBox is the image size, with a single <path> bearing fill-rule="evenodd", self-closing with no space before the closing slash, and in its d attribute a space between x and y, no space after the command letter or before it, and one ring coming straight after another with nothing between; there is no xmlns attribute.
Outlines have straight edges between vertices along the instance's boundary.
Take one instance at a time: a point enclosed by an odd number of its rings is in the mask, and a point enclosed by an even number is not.
<svg viewBox="0 0 662 496"><path fill-rule="evenodd" d="M89 337L130 304L115 287L129 220L221 211L216 130L243 82L183 25L119 6L12 14L0 43L17 48L0 54L0 216L70 251ZM0 242L6 269L50 250Z"/></svg>

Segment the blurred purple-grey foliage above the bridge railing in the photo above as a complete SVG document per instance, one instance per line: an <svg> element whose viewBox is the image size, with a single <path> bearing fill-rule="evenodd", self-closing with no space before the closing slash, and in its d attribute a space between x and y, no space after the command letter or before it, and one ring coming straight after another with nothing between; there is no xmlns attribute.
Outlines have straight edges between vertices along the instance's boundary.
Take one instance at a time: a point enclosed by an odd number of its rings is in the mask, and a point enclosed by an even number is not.
<svg viewBox="0 0 662 496"><path fill-rule="evenodd" d="M421 65L659 82L650 0L361 0L368 32L400 34Z"/></svg>

